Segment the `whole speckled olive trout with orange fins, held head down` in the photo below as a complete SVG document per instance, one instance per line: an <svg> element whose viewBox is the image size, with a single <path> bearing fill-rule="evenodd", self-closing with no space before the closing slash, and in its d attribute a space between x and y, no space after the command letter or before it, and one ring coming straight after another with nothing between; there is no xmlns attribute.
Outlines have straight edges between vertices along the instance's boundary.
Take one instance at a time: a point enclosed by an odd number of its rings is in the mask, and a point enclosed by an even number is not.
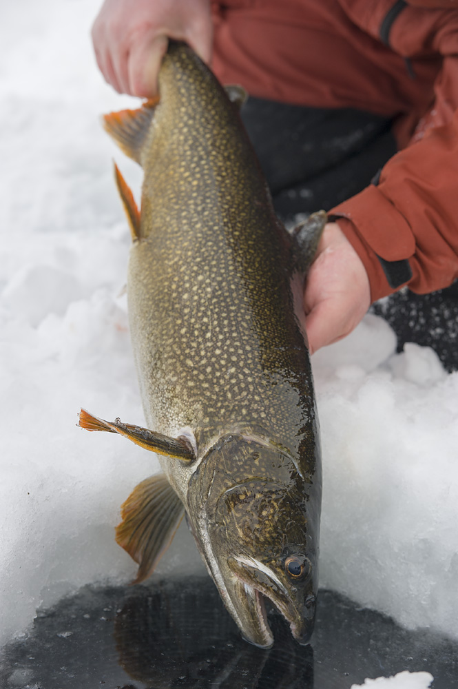
<svg viewBox="0 0 458 689"><path fill-rule="evenodd" d="M83 409L79 425L159 456L116 528L135 582L185 515L244 639L272 646L273 606L308 644L322 469L302 295L326 213L287 232L240 119L244 90L223 88L187 44L169 41L158 80L158 99L104 116L144 172L138 209L115 165L147 427Z"/></svg>

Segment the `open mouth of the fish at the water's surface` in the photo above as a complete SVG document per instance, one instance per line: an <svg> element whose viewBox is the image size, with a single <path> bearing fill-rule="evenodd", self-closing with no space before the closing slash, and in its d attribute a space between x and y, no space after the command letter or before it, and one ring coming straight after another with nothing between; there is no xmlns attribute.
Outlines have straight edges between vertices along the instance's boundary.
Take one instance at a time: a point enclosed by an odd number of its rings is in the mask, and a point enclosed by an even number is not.
<svg viewBox="0 0 458 689"><path fill-rule="evenodd" d="M313 596L309 596L309 602L313 599L312 604L300 609L291 600L291 595L284 584L264 564L251 557L231 557L228 564L236 575L238 588L241 589L239 596L244 594L242 608L245 614L239 615L244 624L239 624L239 626L247 641L261 648L272 646L273 634L267 621L265 605L266 599L269 599L289 623L291 634L296 641L301 645L309 643L315 617ZM253 634L253 631L256 633Z"/></svg>

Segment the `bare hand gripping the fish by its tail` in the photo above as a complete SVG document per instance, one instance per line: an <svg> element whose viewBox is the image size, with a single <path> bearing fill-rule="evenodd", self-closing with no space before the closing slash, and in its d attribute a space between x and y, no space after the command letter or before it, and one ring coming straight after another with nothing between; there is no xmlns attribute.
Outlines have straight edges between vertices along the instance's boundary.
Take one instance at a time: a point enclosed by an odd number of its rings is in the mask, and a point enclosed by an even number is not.
<svg viewBox="0 0 458 689"><path fill-rule="evenodd" d="M167 39L186 41L209 62L213 27L209 0L105 0L92 27L98 67L119 93L158 92Z"/></svg>

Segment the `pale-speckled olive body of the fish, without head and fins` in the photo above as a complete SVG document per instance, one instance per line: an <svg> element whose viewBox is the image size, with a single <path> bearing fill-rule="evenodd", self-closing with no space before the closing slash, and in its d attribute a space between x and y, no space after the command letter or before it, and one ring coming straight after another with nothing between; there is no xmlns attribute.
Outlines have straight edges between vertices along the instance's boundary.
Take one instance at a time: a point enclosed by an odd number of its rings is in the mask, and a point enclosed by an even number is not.
<svg viewBox="0 0 458 689"><path fill-rule="evenodd" d="M143 152L128 295L147 422L200 444L222 423L265 426L297 454L315 411L289 240L234 106L195 77L166 58Z"/></svg>

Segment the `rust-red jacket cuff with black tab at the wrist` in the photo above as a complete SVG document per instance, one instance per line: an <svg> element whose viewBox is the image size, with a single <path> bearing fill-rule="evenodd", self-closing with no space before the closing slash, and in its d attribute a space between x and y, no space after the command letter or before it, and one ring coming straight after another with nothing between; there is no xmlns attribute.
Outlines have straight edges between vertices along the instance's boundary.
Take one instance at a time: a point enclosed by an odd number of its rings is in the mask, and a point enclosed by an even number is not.
<svg viewBox="0 0 458 689"><path fill-rule="evenodd" d="M374 185L329 212L360 256L377 301L406 285L412 277L408 259L415 237L405 218Z"/></svg>

